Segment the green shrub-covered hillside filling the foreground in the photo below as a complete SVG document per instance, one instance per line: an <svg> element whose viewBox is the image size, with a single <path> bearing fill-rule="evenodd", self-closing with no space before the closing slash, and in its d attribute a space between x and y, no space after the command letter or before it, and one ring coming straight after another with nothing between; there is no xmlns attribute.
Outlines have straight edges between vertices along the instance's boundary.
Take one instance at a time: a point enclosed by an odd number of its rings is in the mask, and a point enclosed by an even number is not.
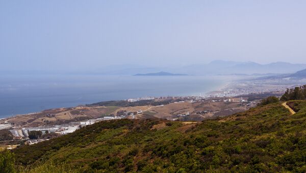
<svg viewBox="0 0 306 173"><path fill-rule="evenodd" d="M306 109L292 101L201 123L111 120L13 152L22 171L306 170Z"/></svg>

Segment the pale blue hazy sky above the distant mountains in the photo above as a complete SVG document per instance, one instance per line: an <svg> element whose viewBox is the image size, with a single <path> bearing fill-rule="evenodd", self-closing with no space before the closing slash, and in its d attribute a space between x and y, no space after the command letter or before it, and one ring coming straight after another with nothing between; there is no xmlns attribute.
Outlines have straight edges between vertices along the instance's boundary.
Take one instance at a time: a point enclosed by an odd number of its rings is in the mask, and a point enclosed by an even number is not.
<svg viewBox="0 0 306 173"><path fill-rule="evenodd" d="M0 69L306 63L306 1L0 1Z"/></svg>

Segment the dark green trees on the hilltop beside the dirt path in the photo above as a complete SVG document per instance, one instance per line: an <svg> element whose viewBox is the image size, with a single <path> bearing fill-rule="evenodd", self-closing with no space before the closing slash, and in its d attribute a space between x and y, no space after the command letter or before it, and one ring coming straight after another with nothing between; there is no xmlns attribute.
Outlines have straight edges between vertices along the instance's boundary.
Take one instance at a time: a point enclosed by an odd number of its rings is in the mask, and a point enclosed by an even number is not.
<svg viewBox="0 0 306 173"><path fill-rule="evenodd" d="M306 85L295 87L294 89L288 89L281 97L281 101L290 100L306 100Z"/></svg>

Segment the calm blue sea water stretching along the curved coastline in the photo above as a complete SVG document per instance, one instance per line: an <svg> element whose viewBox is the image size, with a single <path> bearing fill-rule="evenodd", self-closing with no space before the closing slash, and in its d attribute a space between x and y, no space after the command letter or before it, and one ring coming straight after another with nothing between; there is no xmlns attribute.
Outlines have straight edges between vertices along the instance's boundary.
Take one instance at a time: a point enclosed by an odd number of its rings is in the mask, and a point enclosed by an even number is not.
<svg viewBox="0 0 306 173"><path fill-rule="evenodd" d="M228 81L214 76L0 76L0 118L141 96L199 95Z"/></svg>

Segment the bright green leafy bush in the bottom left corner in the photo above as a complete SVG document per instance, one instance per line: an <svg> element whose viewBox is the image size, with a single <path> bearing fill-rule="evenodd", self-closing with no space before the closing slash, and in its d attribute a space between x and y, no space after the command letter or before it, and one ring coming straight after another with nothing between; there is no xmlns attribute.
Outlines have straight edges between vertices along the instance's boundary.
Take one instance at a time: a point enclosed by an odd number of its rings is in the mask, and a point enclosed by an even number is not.
<svg viewBox="0 0 306 173"><path fill-rule="evenodd" d="M4 173L16 172L15 157L11 151L5 150L0 153L0 170Z"/></svg>

